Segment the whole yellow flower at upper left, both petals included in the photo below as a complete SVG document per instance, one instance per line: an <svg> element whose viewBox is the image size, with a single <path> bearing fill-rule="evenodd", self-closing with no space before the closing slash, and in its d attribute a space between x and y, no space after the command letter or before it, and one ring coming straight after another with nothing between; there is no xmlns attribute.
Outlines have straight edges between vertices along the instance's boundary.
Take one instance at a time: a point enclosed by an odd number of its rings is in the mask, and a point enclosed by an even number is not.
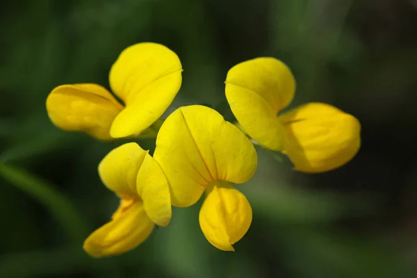
<svg viewBox="0 0 417 278"><path fill-rule="evenodd" d="M181 72L177 54L167 47L134 44L122 51L109 75L111 89L126 106L97 84L60 85L47 98L49 118L61 129L100 140L141 133L172 103Z"/></svg>

